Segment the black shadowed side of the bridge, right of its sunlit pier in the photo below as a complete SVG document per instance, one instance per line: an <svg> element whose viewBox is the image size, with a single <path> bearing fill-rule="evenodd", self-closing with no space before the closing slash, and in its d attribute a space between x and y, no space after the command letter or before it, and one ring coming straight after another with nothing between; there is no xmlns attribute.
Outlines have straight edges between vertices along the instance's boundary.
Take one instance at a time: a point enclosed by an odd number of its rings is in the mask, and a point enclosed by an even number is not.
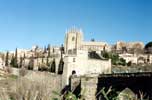
<svg viewBox="0 0 152 100"><path fill-rule="evenodd" d="M112 86L114 92L121 92L128 88L140 97L140 91L143 92L145 98L152 99L152 73L125 73L125 74L109 74L101 75L98 78L97 93L104 87L108 90ZM116 94L118 96L118 94ZM97 100L101 98L97 97ZM104 100L104 99L103 99Z"/></svg>

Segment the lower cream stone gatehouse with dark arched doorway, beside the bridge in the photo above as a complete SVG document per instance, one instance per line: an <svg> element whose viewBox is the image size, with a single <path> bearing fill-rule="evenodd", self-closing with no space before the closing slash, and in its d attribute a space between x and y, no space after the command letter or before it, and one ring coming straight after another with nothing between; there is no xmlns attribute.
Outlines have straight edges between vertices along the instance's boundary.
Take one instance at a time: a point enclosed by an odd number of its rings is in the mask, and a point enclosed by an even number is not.
<svg viewBox="0 0 152 100"><path fill-rule="evenodd" d="M111 59L101 60L89 58L88 52L78 50L77 54L64 56L63 86L69 84L70 76L75 73L78 76L91 74L110 74Z"/></svg>

